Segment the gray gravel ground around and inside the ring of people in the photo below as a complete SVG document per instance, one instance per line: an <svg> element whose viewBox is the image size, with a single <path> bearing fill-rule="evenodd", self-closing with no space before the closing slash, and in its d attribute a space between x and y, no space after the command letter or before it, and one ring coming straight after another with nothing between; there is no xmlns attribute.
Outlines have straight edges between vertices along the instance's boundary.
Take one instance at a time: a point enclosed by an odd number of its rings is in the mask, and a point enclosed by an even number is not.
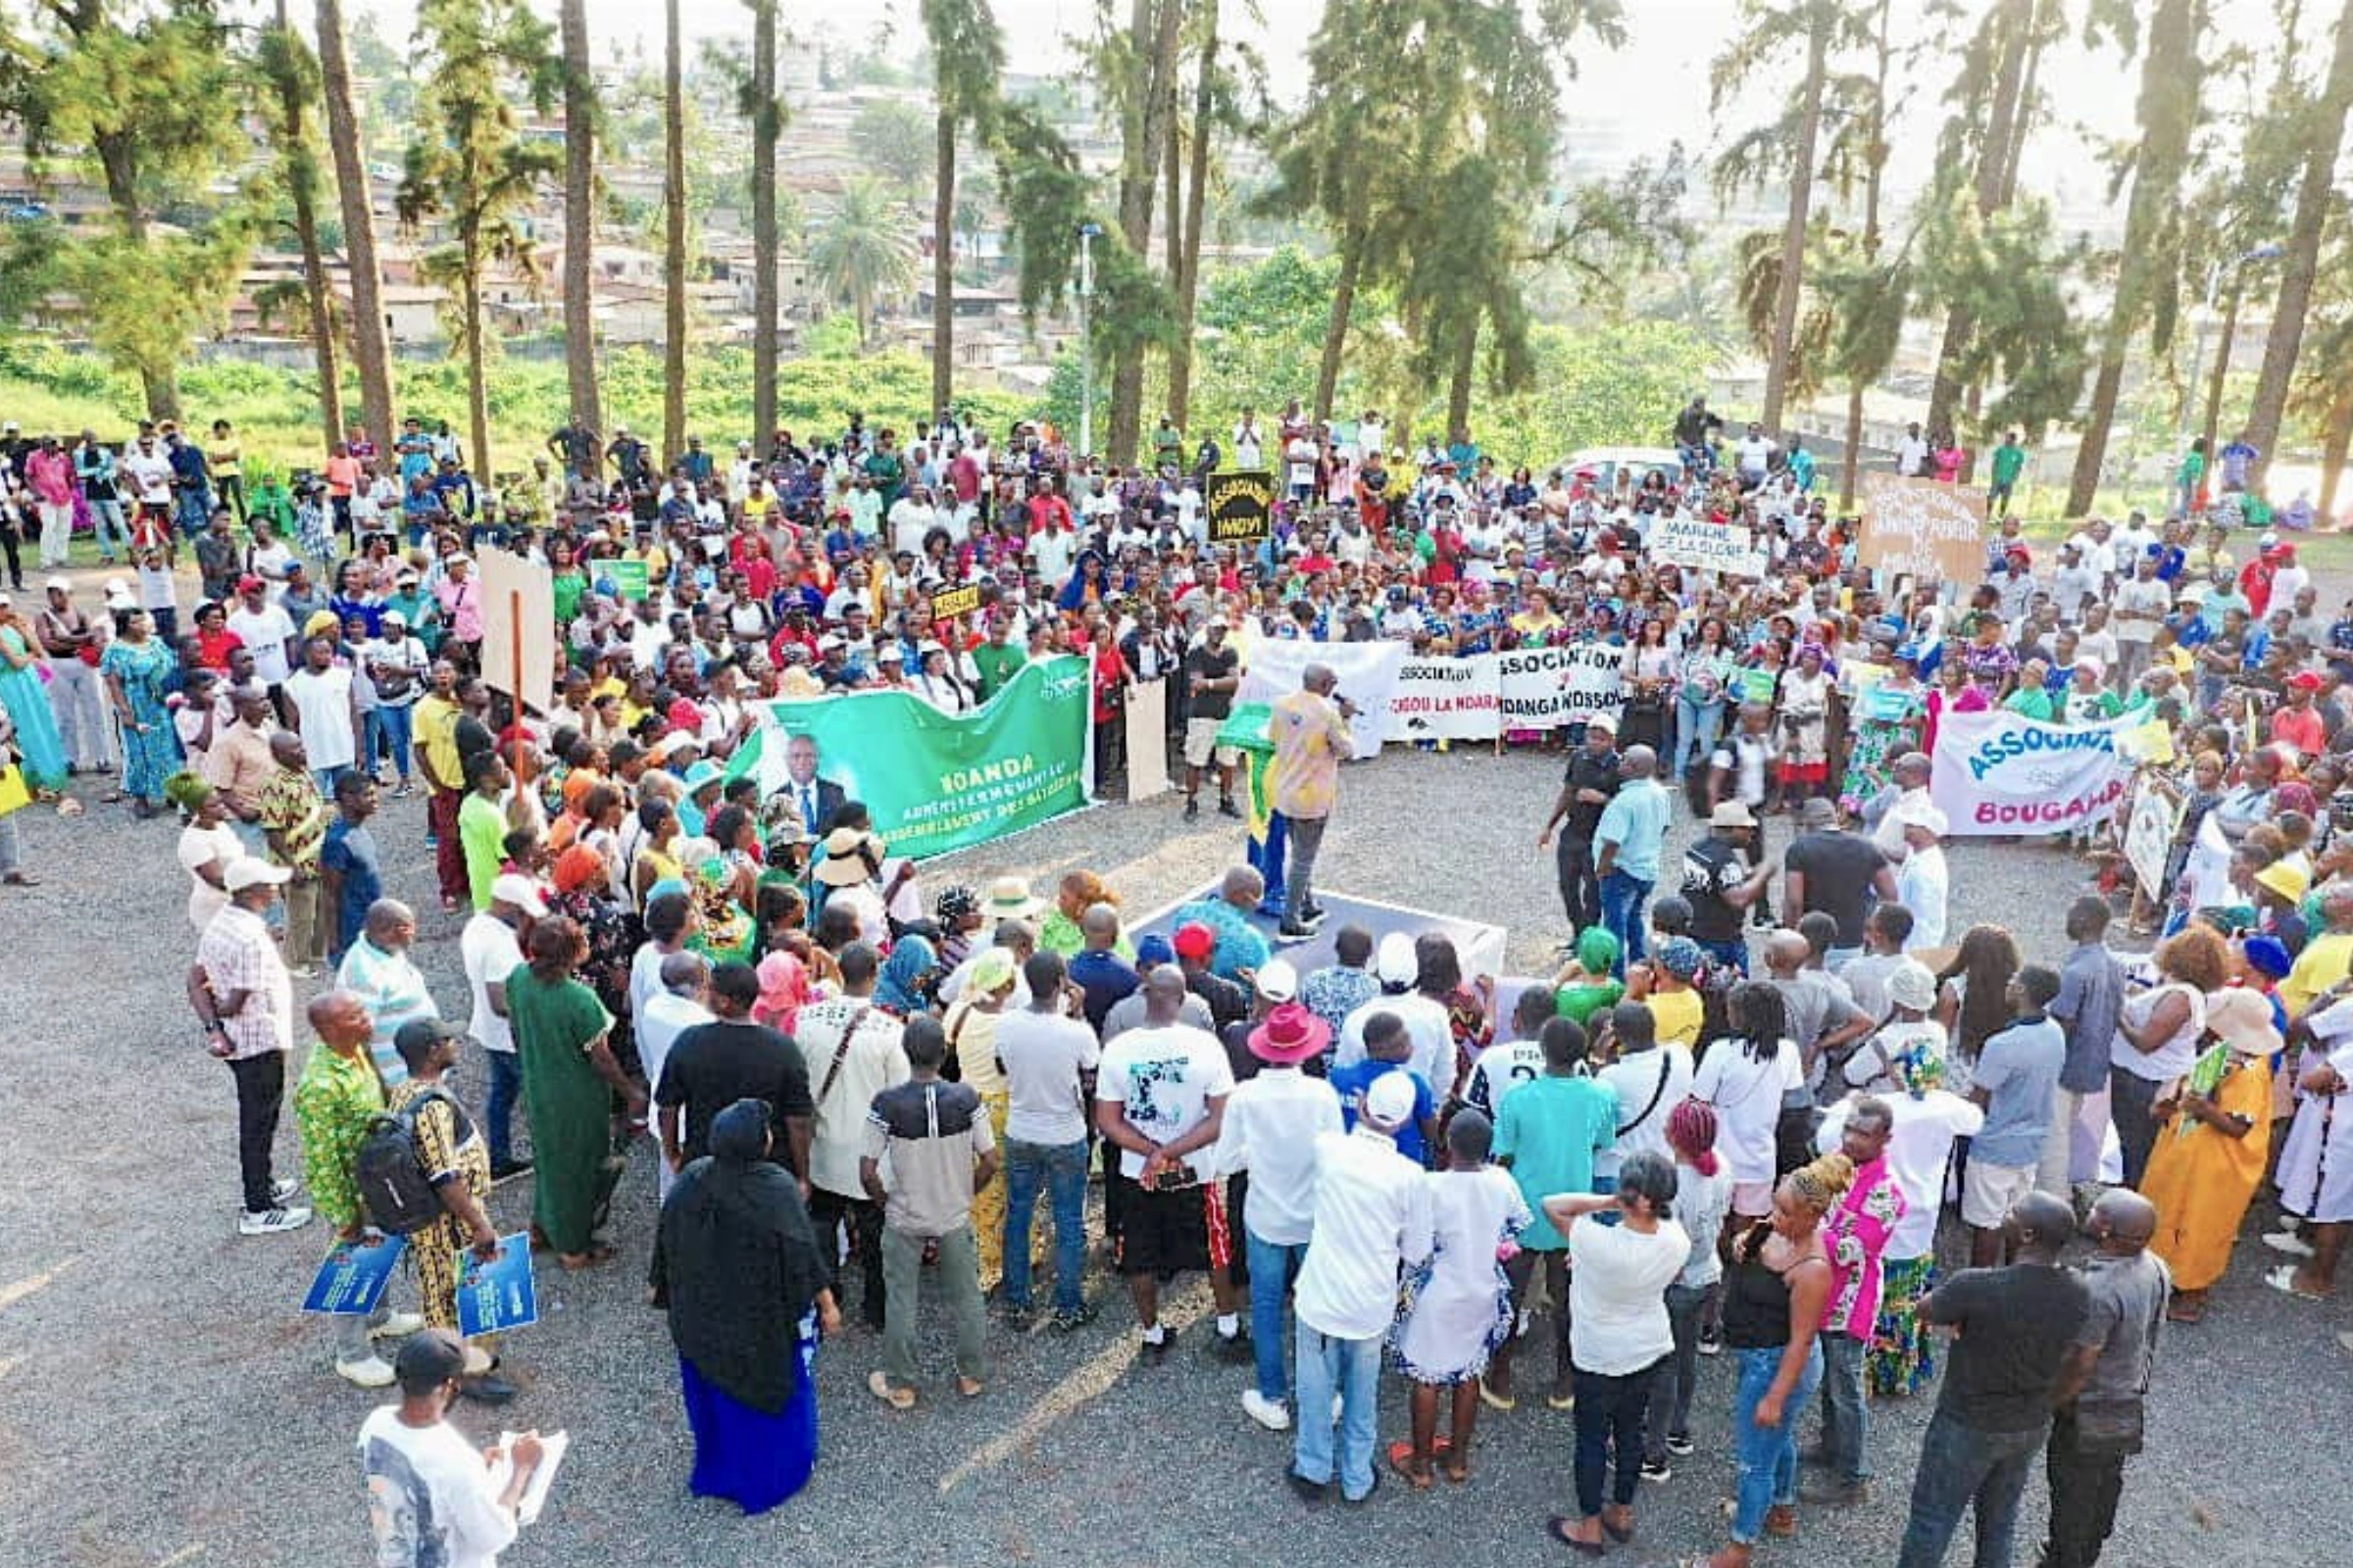
<svg viewBox="0 0 2353 1568"><path fill-rule="evenodd" d="M1553 788L1555 762L1537 755L1457 748L1353 766L1322 882L1506 924L1511 964L1534 969L1567 936L1551 856L1534 853ZM421 802L395 802L381 837L391 886L431 905L421 818ZM351 1439L379 1396L334 1378L327 1331L292 1307L325 1232L233 1234L235 1107L179 994L193 940L172 835L96 806L78 820L26 813L28 865L45 886L0 898L0 994L16 1025L0 1030L9 1131L14 1147L42 1152L45 1173L0 1187L0 1563L358 1563ZM1781 827L1774 842L1786 842ZM1148 910L1217 875L1235 849L1231 823L1212 816L1188 832L1172 804L1148 804L1064 818L962 856L953 872L1045 884L1094 865ZM2064 952L2073 863L1977 844L1953 863L1958 924L2009 922L2031 954ZM442 1011L464 1018L454 938L454 919L424 917L421 961ZM280 1152L282 1171L296 1171L292 1124ZM1362 1516L1311 1512L1280 1483L1287 1439L1235 1406L1247 1371L1200 1354L1205 1326L1162 1368L1132 1368L1122 1300L1106 1300L1075 1340L995 1331L995 1382L969 1406L946 1396L934 1349L913 1415L861 1392L875 1345L852 1331L821 1354L824 1462L809 1493L758 1521L692 1500L668 1338L642 1305L649 1166L640 1150L621 1190L621 1260L586 1276L544 1269L546 1319L511 1340L527 1392L506 1420L574 1436L548 1516L511 1563L765 1563L802 1542L840 1552L842 1519L854 1521L849 1561L899 1563L1271 1561L1275 1540L1289 1561L1346 1563L1367 1528L1391 1561L1553 1552L1541 1528L1567 1505L1567 1415L1485 1413L1468 1488L1407 1495L1391 1483ZM529 1182L499 1190L494 1211L501 1229L520 1227ZM2353 1505L2311 1486L2311 1460L2329 1450L2320 1434L2341 1432L2353 1359L2332 1335L2353 1312L2261 1288L2266 1262L2249 1237L2207 1326L2169 1333L2151 1446L2129 1472L2106 1561L2344 1561L2327 1542L2346 1540ZM1111 1281L1094 1288L1113 1295ZM1172 1321L1195 1321L1205 1305L1193 1286ZM1704 1366L1704 1450L1680 1460L1671 1483L1642 1488L1642 1537L1614 1549L1619 1561L1668 1563L1720 1540L1729 1378L1725 1361ZM1393 1380L1381 1401L1386 1439L1402 1429ZM1762 1561L1892 1561L1925 1415L1925 1401L1878 1406L1878 1500L1847 1514L1807 1509L1802 1547ZM459 1420L496 1429L475 1410ZM2021 1554L2040 1512L2035 1481ZM1247 1540L1268 1544L1235 1544Z"/></svg>

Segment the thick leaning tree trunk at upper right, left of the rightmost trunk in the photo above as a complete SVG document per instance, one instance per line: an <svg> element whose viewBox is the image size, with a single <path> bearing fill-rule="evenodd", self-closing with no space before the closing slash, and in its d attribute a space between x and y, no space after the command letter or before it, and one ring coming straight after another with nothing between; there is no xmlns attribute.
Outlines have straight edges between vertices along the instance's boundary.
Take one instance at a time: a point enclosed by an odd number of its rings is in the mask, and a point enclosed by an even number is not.
<svg viewBox="0 0 2353 1568"><path fill-rule="evenodd" d="M2165 353L2179 315L2181 247L2186 240L2181 176L2191 167L2198 129L2198 42L2207 31L2200 0L2158 0L2141 52L2141 136L2132 150L2132 202L2115 259L2115 296L2099 341L2099 374L2082 418L2082 444L2068 480L2066 515L2082 517L2099 491L2108 456L2115 400L2125 386L2125 350L2151 327Z"/></svg>

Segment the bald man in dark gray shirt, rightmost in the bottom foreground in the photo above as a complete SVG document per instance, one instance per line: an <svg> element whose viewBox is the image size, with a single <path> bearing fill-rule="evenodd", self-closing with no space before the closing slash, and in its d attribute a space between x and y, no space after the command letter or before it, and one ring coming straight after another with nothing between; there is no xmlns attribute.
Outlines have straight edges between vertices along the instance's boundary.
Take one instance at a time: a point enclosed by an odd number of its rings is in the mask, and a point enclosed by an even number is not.
<svg viewBox="0 0 2353 1568"><path fill-rule="evenodd" d="M2129 1187L2111 1187L2085 1220L2094 1253L2085 1267L2092 1314L2059 1371L2045 1469L2052 1533L2042 1568L2092 1568L2115 1528L2125 1460L2141 1450L2141 1401L2158 1359L2158 1326L2172 1276L2148 1251L2158 1211Z"/></svg>

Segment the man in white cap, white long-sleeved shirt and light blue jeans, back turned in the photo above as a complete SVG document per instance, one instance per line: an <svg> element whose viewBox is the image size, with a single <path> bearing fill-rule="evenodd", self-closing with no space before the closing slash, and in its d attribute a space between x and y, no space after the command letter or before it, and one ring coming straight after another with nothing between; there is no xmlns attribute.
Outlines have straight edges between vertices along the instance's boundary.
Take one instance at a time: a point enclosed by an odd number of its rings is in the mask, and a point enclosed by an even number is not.
<svg viewBox="0 0 2353 1568"><path fill-rule="evenodd" d="M1308 1502L1320 1502L1334 1481L1344 1502L1365 1502L1379 1483L1374 1403L1381 1345L1398 1316L1398 1272L1431 1255L1431 1187L1395 1143L1412 1117L1412 1081L1388 1072L1365 1088L1353 1133L1315 1138L1313 1237L1297 1300L1299 1439L1289 1469L1292 1490Z"/></svg>

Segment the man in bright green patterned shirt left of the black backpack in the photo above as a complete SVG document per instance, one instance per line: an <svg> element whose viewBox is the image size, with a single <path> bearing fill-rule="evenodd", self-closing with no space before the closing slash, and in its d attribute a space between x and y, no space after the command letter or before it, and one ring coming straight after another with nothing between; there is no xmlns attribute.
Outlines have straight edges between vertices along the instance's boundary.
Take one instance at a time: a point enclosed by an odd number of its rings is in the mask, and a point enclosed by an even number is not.
<svg viewBox="0 0 2353 1568"><path fill-rule="evenodd" d="M372 1032L367 1004L353 992L332 990L311 999L311 1060L294 1084L294 1128L301 1133L301 1173L311 1187L311 1206L341 1241L367 1237L367 1213L360 1206L355 1161L367 1124L384 1114L384 1081L369 1060ZM369 1338L405 1338L426 1326L414 1312L348 1312L334 1319L334 1371L362 1389L381 1389L393 1380Z"/></svg>

